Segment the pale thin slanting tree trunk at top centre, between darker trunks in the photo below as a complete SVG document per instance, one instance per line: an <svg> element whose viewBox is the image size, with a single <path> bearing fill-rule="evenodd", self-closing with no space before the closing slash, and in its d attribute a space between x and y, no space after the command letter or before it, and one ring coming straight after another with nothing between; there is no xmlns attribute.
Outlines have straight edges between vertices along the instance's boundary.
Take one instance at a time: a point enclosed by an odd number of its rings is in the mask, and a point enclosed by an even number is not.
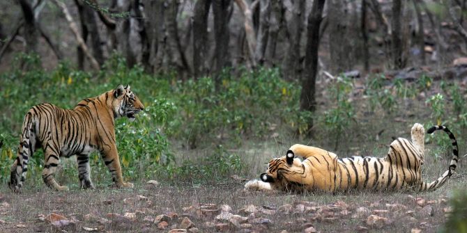
<svg viewBox="0 0 467 233"><path fill-rule="evenodd" d="M252 21L252 10L248 6L245 0L234 0L237 3L238 8L240 8L240 12L243 13L244 19L244 26L245 26L245 34L247 38L247 45L248 45L248 54L250 58L250 62L252 63L252 67L256 67L257 63L254 59L254 51L256 50L257 41L254 36L254 26Z"/></svg>

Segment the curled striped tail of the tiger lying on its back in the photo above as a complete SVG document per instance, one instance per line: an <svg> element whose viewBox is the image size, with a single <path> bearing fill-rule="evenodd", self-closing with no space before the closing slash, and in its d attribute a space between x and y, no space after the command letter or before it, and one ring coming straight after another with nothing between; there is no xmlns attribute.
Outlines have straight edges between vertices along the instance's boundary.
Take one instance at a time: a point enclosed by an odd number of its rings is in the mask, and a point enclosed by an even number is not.
<svg viewBox="0 0 467 233"><path fill-rule="evenodd" d="M428 129L427 133L432 134L436 130L443 130L446 132L446 134L449 136L451 139L451 144L452 144L452 159L451 163L449 165L449 168L439 177L436 179L434 182L422 182L420 186L420 191L435 191L437 188L443 186L443 184L451 177L452 174L454 174L454 171L457 168L457 161L459 161L459 146L457 146L457 140L454 134L447 129L444 125L437 125L434 127L431 127Z"/></svg>

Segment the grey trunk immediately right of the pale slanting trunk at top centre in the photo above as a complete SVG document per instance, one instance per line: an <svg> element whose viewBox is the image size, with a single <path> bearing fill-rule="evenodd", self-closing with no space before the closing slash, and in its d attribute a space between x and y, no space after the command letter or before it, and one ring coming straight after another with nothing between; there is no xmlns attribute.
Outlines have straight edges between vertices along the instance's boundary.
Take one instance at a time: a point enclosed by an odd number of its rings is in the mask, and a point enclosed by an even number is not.
<svg viewBox="0 0 467 233"><path fill-rule="evenodd" d="M270 0L261 0L259 5L261 8L259 10L257 49L254 52L254 57L256 58L257 63L263 65L269 38Z"/></svg>

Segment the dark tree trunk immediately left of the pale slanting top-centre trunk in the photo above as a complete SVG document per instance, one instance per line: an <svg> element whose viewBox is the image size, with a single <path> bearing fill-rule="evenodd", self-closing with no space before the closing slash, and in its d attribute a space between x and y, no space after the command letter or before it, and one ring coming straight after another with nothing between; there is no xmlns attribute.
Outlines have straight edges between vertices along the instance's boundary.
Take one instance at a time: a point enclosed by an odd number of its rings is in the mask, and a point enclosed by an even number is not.
<svg viewBox="0 0 467 233"><path fill-rule="evenodd" d="M219 87L218 79L222 69L229 61L229 17L231 10L231 0L213 0L214 14L214 38L215 38L215 76L216 87Z"/></svg>

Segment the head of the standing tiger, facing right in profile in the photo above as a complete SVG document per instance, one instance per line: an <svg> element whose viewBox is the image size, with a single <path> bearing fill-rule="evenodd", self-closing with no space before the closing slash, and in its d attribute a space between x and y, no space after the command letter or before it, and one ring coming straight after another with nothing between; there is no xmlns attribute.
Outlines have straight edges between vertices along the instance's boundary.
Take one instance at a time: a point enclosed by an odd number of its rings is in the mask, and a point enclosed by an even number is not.
<svg viewBox="0 0 467 233"><path fill-rule="evenodd" d="M136 114L144 109L144 105L139 101L135 93L132 93L129 85L126 87L118 85L113 92L113 96L112 109L116 118L126 116L130 121L133 121Z"/></svg>

